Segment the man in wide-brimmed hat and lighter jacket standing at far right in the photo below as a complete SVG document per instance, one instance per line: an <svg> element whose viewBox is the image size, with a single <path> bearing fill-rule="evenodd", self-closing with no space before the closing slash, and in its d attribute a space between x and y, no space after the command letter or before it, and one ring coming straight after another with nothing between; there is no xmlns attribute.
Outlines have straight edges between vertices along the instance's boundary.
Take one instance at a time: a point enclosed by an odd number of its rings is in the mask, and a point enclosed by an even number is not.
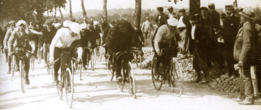
<svg viewBox="0 0 261 110"><path fill-rule="evenodd" d="M250 67L256 54L254 47L255 40L255 24L253 19L256 14L251 8L244 8L241 15L241 23L243 27L239 29L234 43L234 59L238 61L238 67L241 71L241 89L238 98L232 99L240 105L252 105L254 103L254 91L251 80ZM257 41L257 40L256 40Z"/></svg>

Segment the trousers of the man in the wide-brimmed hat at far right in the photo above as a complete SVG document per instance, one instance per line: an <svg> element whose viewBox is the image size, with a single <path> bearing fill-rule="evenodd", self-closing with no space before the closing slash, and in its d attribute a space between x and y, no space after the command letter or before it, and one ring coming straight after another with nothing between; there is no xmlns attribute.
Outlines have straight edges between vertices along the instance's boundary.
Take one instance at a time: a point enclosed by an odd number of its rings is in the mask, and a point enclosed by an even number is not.
<svg viewBox="0 0 261 110"><path fill-rule="evenodd" d="M249 102L254 102L254 90L251 80L250 73L250 65L249 63L244 63L243 67L241 67L241 88L240 88L240 96L239 99L246 100Z"/></svg>

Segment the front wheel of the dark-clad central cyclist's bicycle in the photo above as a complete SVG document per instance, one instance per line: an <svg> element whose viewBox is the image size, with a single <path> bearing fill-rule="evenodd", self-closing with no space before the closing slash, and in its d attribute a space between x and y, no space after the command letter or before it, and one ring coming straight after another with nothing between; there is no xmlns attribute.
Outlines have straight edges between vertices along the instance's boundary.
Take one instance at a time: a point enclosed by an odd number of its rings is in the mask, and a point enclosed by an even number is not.
<svg viewBox="0 0 261 110"><path fill-rule="evenodd" d="M128 62L128 77L129 77L132 97L136 98L137 89L135 86L135 76L134 76L133 68L131 66L131 62ZM132 80L131 80L131 77L132 77Z"/></svg>

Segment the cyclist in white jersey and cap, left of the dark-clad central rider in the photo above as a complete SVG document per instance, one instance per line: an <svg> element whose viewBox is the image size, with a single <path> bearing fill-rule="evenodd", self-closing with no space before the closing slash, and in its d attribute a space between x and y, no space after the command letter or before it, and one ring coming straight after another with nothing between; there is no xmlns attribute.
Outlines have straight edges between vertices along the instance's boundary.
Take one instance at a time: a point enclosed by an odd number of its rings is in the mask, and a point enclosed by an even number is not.
<svg viewBox="0 0 261 110"><path fill-rule="evenodd" d="M74 49L71 49L71 44L75 41L78 42L78 59L77 62L81 64L81 56L82 56L82 47L81 47L81 36L80 36L80 25L78 23L71 23L69 28L61 28L55 34L55 37L52 39L50 45L50 65L54 65L54 85L57 86L58 84L58 70L60 69L61 61L58 60L54 63L54 60L60 57L62 51L71 52L71 56L74 56L75 53ZM72 64L73 65L73 64Z"/></svg>

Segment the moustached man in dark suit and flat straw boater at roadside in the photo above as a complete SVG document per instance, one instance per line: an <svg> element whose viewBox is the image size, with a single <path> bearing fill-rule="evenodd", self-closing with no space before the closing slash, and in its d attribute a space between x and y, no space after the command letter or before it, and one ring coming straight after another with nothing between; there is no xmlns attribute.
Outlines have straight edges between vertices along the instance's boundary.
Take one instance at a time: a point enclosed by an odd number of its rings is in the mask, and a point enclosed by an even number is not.
<svg viewBox="0 0 261 110"><path fill-rule="evenodd" d="M240 20L234 14L233 5L225 6L226 18L223 23L224 31L224 43L225 43L225 54L226 63L229 70L229 80L233 80L238 76L238 72L234 69L234 64L237 62L233 58L234 41L238 34Z"/></svg>

